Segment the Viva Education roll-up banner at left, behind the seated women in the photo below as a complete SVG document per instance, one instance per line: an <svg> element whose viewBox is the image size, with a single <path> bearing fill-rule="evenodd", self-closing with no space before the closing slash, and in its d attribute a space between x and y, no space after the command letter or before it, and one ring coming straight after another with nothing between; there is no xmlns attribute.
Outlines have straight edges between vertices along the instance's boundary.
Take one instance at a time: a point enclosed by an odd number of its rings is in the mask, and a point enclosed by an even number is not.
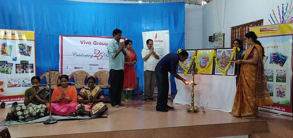
<svg viewBox="0 0 293 138"><path fill-rule="evenodd" d="M0 102L24 101L36 76L34 31L0 30Z"/></svg>

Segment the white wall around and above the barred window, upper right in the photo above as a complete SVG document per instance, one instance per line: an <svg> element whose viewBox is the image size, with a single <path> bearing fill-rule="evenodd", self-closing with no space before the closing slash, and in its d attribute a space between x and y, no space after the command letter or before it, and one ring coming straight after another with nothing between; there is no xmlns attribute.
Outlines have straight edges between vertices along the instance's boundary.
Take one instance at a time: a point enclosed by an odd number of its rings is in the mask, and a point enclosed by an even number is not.
<svg viewBox="0 0 293 138"><path fill-rule="evenodd" d="M225 33L225 47L229 48L231 27L259 19L263 19L263 25L269 25L268 19L272 9L277 15L277 6L282 6L283 3L285 9L286 4L290 5L291 0L213 0L209 2L202 9L202 48L209 48L208 44L212 43L208 42L208 36L220 31Z"/></svg>

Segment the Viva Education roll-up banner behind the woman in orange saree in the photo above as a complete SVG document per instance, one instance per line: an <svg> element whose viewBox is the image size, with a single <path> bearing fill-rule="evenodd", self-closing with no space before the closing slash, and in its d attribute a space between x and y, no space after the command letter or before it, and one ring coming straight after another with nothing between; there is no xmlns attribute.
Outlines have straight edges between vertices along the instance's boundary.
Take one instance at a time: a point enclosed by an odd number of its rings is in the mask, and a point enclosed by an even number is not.
<svg viewBox="0 0 293 138"><path fill-rule="evenodd" d="M265 52L264 71L273 105L261 110L292 116L293 23L251 27Z"/></svg>

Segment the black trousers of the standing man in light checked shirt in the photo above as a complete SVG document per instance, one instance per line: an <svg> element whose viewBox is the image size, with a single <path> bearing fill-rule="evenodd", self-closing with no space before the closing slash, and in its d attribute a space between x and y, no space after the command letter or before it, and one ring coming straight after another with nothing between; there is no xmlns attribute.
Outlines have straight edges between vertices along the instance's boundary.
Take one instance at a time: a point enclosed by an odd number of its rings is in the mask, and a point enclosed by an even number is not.
<svg viewBox="0 0 293 138"><path fill-rule="evenodd" d="M124 82L124 70L110 69L110 97L111 105L121 104L121 92Z"/></svg>

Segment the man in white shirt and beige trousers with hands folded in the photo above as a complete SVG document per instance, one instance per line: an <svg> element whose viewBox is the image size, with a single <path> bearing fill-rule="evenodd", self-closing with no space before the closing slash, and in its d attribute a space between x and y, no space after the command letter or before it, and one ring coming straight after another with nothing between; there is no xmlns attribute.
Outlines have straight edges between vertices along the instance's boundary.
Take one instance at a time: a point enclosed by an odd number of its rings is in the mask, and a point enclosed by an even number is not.
<svg viewBox="0 0 293 138"><path fill-rule="evenodd" d="M157 65L157 60L160 58L156 54L156 50L153 47L154 41L151 39L147 40L147 47L141 50L141 56L143 58L143 70L144 70L144 100L145 101L156 101L154 98L154 88L155 88L155 67Z"/></svg>

